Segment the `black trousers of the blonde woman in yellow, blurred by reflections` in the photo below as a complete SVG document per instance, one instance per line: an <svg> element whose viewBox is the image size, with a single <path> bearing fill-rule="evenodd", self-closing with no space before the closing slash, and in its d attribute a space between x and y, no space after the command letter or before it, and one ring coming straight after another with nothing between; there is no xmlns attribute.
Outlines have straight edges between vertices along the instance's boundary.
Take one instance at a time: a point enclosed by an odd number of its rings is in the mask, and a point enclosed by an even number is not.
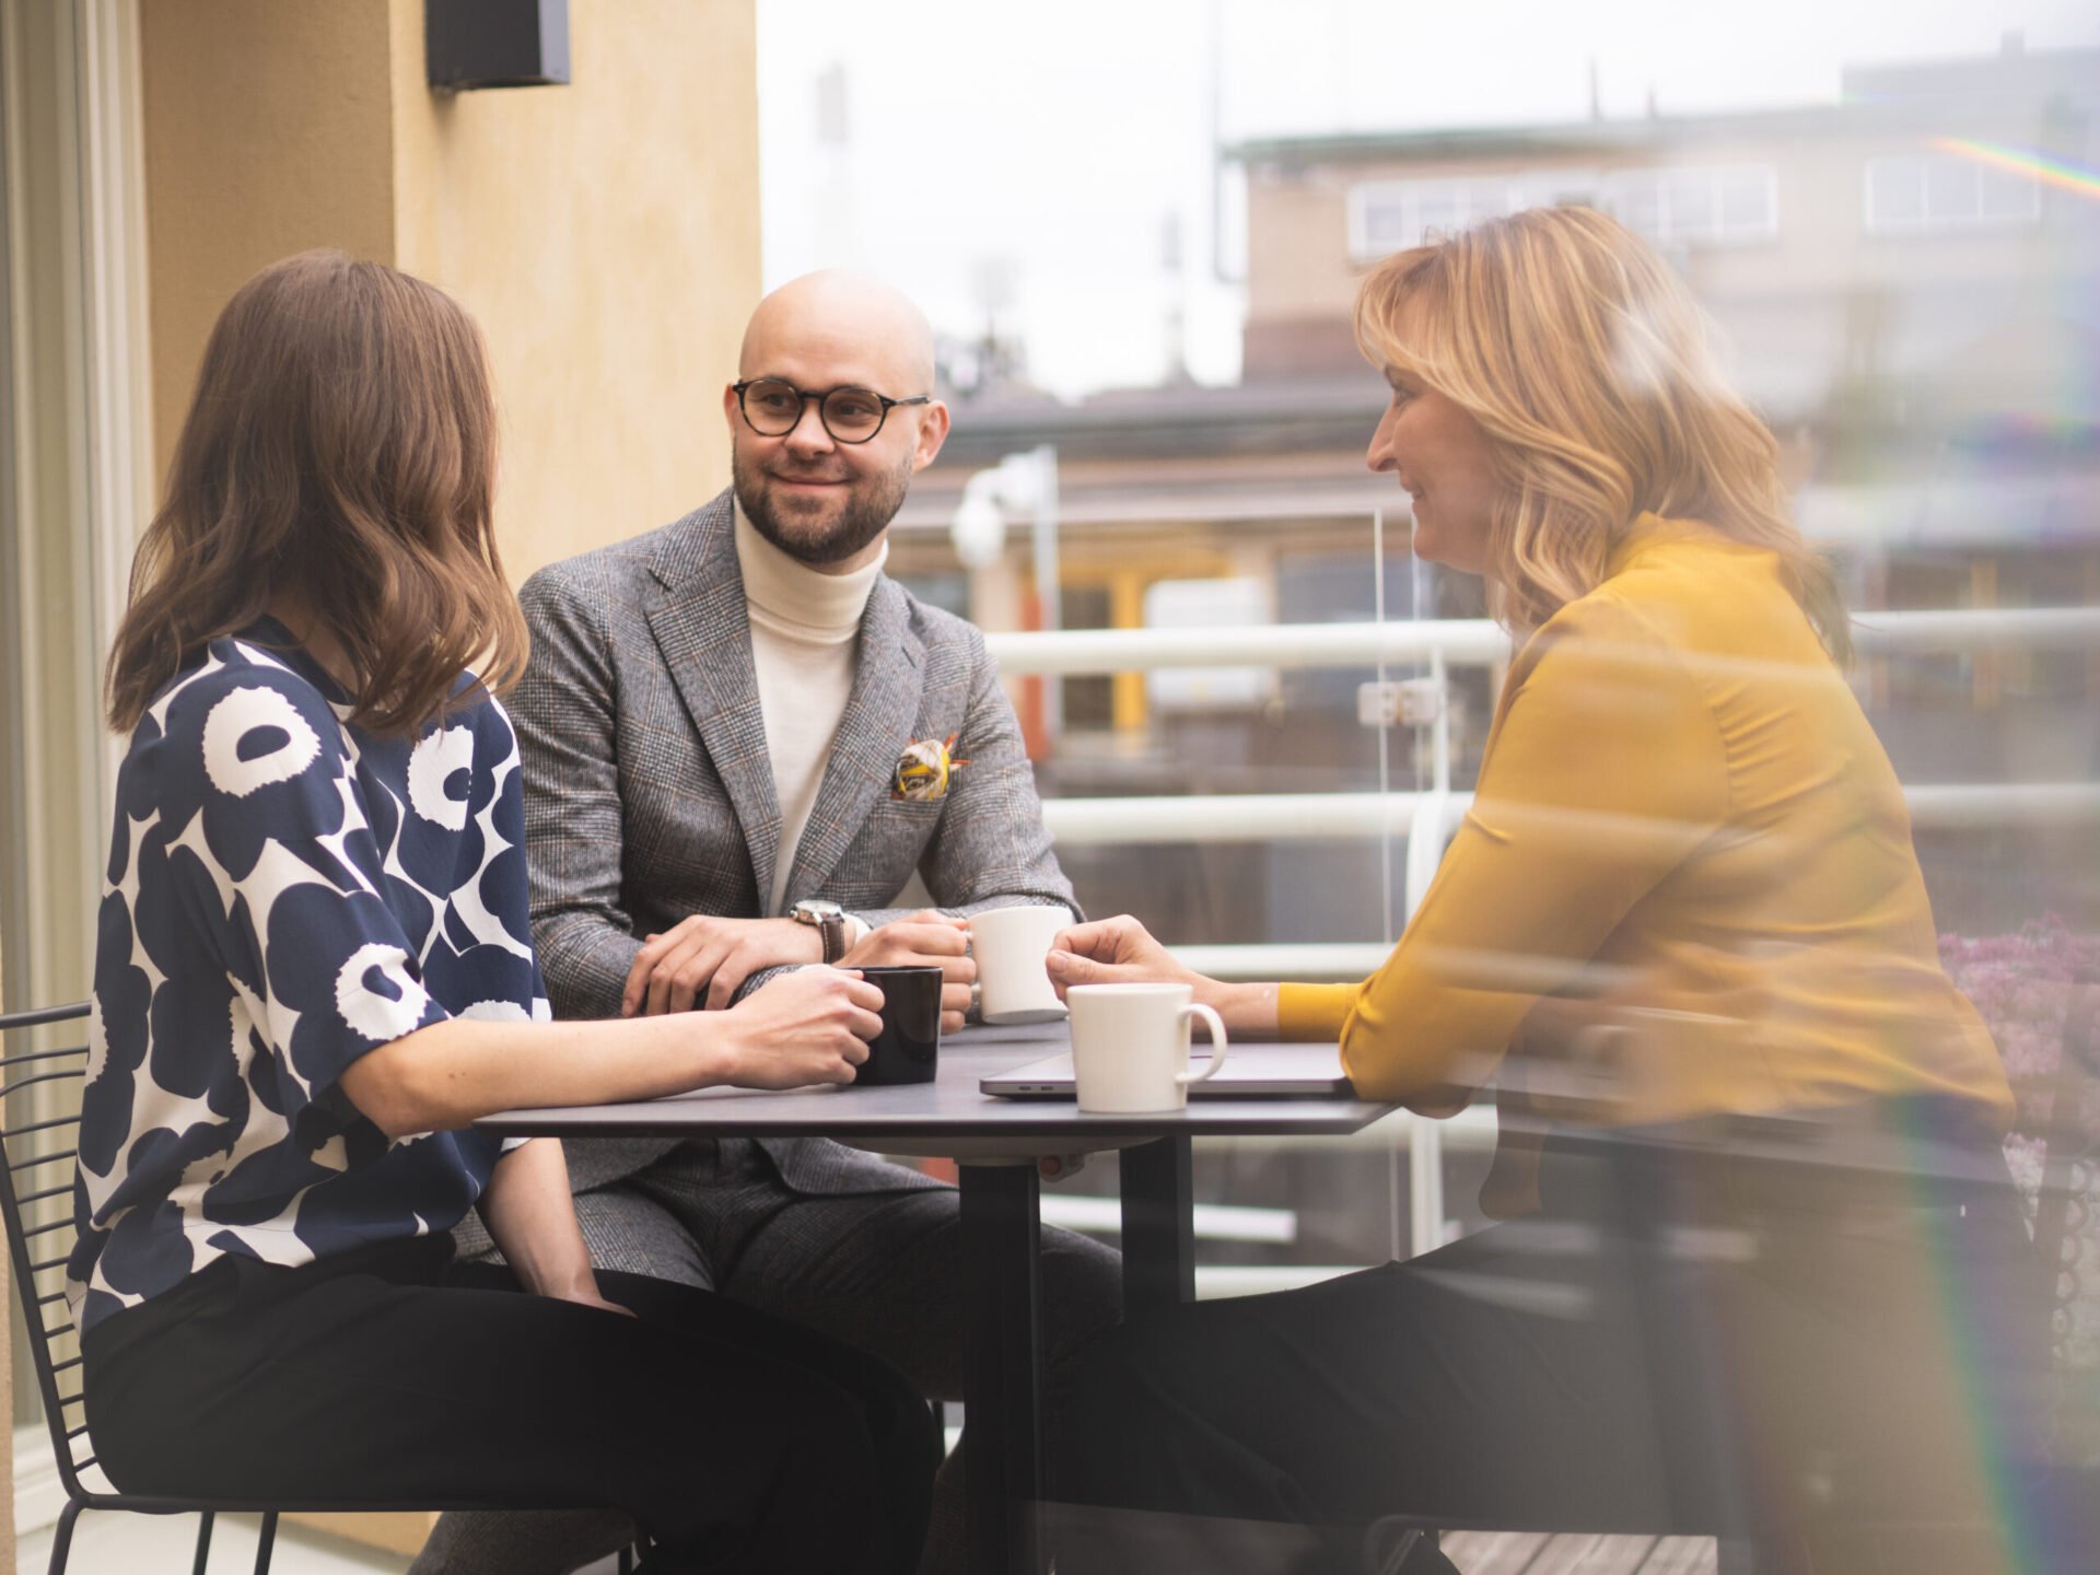
<svg viewBox="0 0 2100 1575"><path fill-rule="evenodd" d="M1598 1163L1552 1153L1539 1218L1105 1336L1048 1407L1058 1560L1363 1571L1382 1516L1768 1533L1819 1478L1989 1512L2041 1334L2010 1182L1636 1166L1625 1199Z"/></svg>

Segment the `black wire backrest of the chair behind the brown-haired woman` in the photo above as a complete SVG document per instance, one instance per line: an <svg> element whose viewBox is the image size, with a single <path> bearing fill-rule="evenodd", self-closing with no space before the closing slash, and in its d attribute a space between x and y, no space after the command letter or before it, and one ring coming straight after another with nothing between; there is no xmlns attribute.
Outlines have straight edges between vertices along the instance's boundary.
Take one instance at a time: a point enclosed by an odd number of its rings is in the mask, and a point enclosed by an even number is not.
<svg viewBox="0 0 2100 1575"><path fill-rule="evenodd" d="M86 1023L88 1004L0 1014L0 1052L44 1025ZM65 1035L78 1033L67 1027ZM0 1214L15 1264L36 1388L44 1401L59 1480L80 1497L80 1472L94 1464L82 1405L80 1340L65 1304L65 1262L78 1235L74 1226L74 1157L80 1147L78 1096L25 1098L32 1088L67 1090L88 1075L88 1046L0 1054ZM50 1113L52 1105L65 1113Z"/></svg>

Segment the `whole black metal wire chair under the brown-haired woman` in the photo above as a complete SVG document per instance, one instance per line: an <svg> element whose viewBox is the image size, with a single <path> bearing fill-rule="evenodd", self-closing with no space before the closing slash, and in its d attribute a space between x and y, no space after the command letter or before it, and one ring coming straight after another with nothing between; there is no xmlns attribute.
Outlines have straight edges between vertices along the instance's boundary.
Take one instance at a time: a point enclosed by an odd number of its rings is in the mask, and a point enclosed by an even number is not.
<svg viewBox="0 0 2100 1575"><path fill-rule="evenodd" d="M57 1023L80 1023L88 1016L86 1002L74 1006L50 1006L44 1010L0 1014L0 1050L8 1048L8 1037L17 1031ZM44 1401L44 1422L50 1428L50 1449L59 1468L59 1483L65 1487L65 1508L50 1544L50 1575L65 1569L74 1546L74 1525L82 1510L130 1510L134 1514L200 1514L197 1552L191 1562L193 1575L204 1575L212 1552L212 1520L216 1514L260 1514L262 1537L256 1546L256 1575L267 1575L271 1550L277 1539L277 1516L281 1512L315 1514L370 1514L399 1510L500 1510L517 1506L500 1504L430 1504L430 1502L370 1502L370 1499L311 1499L298 1504L262 1499L187 1499L158 1497L149 1493L120 1493L116 1489L88 1487L82 1472L94 1468L94 1449L88 1438L88 1422L82 1396L82 1365L71 1312L65 1304L65 1262L74 1250L74 1176L71 1163L78 1153L78 1100L65 1100L67 1111L17 1121L15 1102L25 1090L44 1084L84 1082L88 1069L88 1046L76 1044L59 1050L32 1050L0 1056L0 1214L6 1216L6 1241L15 1264L15 1287L29 1336L29 1359L36 1367L36 1388ZM17 1178L29 1182L27 1191L17 1186ZM69 1346L69 1354L57 1354L52 1346ZM65 1388L65 1386L71 1388ZM550 1506L556 1508L556 1506ZM632 1571L634 1550L620 1552L620 1571Z"/></svg>

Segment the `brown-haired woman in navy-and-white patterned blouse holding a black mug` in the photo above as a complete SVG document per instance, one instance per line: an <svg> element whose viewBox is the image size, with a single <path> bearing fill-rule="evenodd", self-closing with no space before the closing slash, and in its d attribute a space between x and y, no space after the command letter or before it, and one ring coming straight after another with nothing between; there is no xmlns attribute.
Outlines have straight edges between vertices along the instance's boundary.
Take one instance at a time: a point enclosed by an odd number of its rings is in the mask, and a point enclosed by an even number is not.
<svg viewBox="0 0 2100 1575"><path fill-rule="evenodd" d="M533 1105L850 1082L880 995L550 1023L525 662L475 323L338 252L204 353L109 659L130 733L67 1294L126 1491L628 1510L651 1571L911 1571L939 1441L882 1363L598 1277ZM452 1264L479 1208L508 1268Z"/></svg>

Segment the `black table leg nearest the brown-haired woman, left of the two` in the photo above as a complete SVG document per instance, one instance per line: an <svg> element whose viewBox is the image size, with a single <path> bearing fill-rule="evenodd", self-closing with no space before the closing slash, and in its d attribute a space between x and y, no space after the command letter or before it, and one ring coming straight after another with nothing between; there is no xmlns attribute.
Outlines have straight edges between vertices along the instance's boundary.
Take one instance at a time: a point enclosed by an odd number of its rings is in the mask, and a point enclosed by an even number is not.
<svg viewBox="0 0 2100 1575"><path fill-rule="evenodd" d="M970 1262L964 1420L970 1430L972 1575L1033 1575L1042 1502L1042 1216L1035 1163L964 1163L962 1237Z"/></svg>

